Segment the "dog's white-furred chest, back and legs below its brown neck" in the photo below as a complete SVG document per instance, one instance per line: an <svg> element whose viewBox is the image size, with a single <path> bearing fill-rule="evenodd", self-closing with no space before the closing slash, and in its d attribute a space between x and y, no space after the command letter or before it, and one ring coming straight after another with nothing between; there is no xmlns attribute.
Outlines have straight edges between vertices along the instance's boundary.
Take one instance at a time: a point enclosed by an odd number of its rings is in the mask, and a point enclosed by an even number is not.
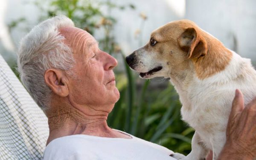
<svg viewBox="0 0 256 160"><path fill-rule="evenodd" d="M201 158L201 153L204 152L204 147L198 145L201 141L205 148L213 151L213 160L216 160L226 142L227 121L235 90L240 89L244 94L245 104L256 96L256 71L250 60L241 58L233 51L232 53L232 60L225 70L207 79L200 80L195 73L187 73L183 80L171 76L172 84L175 85L183 104L183 120L196 130L196 138L193 137L192 140L192 152L186 157L175 154L175 158Z"/></svg>

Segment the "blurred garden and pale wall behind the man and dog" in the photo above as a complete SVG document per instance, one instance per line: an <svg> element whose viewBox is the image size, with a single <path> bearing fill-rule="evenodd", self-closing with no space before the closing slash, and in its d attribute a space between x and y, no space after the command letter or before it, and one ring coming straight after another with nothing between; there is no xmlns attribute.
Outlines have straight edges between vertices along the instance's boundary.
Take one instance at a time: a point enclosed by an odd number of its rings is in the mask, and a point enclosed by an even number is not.
<svg viewBox="0 0 256 160"><path fill-rule="evenodd" d="M174 87L168 79L140 79L124 57L147 43L154 29L186 18L254 64L255 6L255 0L0 0L0 54L17 75L20 39L48 17L70 17L119 61L115 74L121 97L109 126L188 154L194 130L181 120Z"/></svg>

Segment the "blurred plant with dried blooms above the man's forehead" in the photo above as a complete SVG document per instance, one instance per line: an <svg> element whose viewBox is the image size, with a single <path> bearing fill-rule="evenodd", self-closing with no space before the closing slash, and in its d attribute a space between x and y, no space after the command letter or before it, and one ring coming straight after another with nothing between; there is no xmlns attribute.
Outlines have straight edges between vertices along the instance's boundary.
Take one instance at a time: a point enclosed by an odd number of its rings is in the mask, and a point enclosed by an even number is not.
<svg viewBox="0 0 256 160"><path fill-rule="evenodd" d="M111 0L46 0L43 3L41 0L35 1L41 12L47 13L40 17L40 21L55 15L66 15L73 20L76 27L86 30L91 35L95 35L96 30L104 32L104 36L98 39L99 47L110 54L119 52L112 33L116 19L111 16L111 10L135 9L132 4L119 6Z"/></svg>

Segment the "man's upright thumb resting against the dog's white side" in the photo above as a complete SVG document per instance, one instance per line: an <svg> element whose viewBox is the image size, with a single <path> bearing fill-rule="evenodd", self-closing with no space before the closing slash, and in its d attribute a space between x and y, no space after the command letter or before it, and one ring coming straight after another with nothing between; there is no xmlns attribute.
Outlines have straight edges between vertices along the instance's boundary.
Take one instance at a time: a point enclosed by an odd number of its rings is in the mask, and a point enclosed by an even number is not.
<svg viewBox="0 0 256 160"><path fill-rule="evenodd" d="M244 96L239 89L236 89L236 96L232 103L232 109L230 116L236 116L237 113L241 112L244 109Z"/></svg>

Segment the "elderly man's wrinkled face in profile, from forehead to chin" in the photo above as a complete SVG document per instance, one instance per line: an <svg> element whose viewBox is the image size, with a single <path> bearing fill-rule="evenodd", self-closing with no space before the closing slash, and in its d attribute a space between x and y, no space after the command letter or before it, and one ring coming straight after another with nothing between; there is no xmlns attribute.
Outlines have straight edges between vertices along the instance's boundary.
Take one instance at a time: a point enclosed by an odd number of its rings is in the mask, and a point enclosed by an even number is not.
<svg viewBox="0 0 256 160"><path fill-rule="evenodd" d="M97 41L88 32L76 27L60 29L65 43L72 49L76 64L75 76L69 76L69 100L72 105L96 106L107 111L119 99L113 68L117 61L99 49Z"/></svg>

